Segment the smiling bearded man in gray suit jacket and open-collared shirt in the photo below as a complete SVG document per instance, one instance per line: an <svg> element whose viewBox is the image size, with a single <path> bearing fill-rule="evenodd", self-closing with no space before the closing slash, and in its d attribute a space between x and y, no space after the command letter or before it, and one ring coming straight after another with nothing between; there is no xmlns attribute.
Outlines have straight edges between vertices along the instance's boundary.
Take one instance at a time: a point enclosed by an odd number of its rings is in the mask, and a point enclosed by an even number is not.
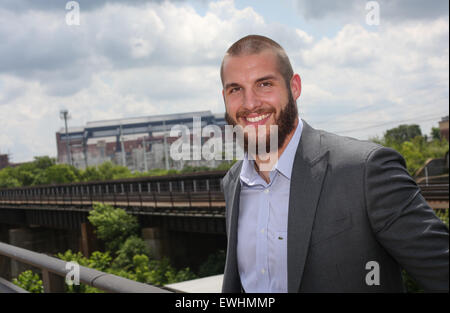
<svg viewBox="0 0 450 313"><path fill-rule="evenodd" d="M221 78L229 124L278 125L273 169L247 153L222 182L223 292L402 292L401 269L448 291L448 229L398 153L299 119L300 76L269 38L234 43Z"/></svg>

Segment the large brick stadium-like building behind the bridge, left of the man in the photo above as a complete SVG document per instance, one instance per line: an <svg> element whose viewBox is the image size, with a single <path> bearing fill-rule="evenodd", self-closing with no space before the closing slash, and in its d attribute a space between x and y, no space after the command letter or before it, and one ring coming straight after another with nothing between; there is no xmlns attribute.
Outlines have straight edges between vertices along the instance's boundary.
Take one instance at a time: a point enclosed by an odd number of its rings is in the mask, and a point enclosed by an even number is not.
<svg viewBox="0 0 450 313"><path fill-rule="evenodd" d="M178 139L170 137L170 130L185 125L192 136L194 117L200 118L202 128L217 125L223 130L226 124L224 114L210 111L88 122L85 127L69 127L67 136L64 128L56 133L57 162L85 169L111 161L140 172L187 165L216 167L221 160L174 161L168 157L170 145Z"/></svg>

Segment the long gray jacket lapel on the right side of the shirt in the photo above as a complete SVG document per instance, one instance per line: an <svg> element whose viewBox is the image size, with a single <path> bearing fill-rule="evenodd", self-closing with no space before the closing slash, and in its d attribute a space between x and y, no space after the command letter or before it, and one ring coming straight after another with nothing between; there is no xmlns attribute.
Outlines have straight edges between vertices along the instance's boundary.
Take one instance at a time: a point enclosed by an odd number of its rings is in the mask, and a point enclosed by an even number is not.
<svg viewBox="0 0 450 313"><path fill-rule="evenodd" d="M298 292L309 241L328 165L321 151L320 132L303 121L304 128L294 159L288 213L288 292Z"/></svg>

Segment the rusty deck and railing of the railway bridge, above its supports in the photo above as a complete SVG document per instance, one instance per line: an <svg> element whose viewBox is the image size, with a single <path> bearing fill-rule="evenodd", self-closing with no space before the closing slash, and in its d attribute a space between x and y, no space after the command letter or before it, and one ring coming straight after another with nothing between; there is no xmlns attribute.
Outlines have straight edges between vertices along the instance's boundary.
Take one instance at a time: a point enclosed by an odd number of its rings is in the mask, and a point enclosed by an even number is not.
<svg viewBox="0 0 450 313"><path fill-rule="evenodd" d="M95 202L138 215L148 226L225 233L224 171L0 189L0 220L78 229Z"/></svg>

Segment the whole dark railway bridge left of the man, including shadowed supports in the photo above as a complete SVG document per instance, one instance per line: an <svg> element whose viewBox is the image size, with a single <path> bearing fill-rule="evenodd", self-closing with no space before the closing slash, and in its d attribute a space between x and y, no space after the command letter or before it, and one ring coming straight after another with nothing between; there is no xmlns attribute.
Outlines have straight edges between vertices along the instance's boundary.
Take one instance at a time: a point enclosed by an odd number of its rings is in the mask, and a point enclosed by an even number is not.
<svg viewBox="0 0 450 313"><path fill-rule="evenodd" d="M98 202L135 215L156 258L168 256L176 267L195 268L226 249L220 184L225 173L0 189L0 241L33 251L72 249L88 256L101 248L87 219Z"/></svg>

